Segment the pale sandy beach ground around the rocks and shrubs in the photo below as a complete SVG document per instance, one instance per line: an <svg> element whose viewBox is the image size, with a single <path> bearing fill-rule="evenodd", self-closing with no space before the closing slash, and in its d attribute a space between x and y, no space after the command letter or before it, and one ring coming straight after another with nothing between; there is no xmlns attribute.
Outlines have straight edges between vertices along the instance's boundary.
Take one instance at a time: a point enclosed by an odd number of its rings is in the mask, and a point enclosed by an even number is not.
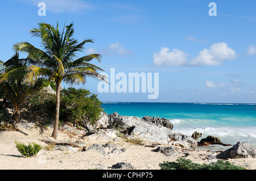
<svg viewBox="0 0 256 181"><path fill-rule="evenodd" d="M39 141L42 138L51 136L52 129L48 129L43 135L39 135L38 129L22 129L22 132L17 131L1 131L0 132L0 169L36 169L36 170L87 170L95 169L98 164L105 166L106 169L112 169L112 165L118 162L129 162L136 169L140 170L159 170L159 163L163 161L176 161L177 158L183 158L185 153L189 153L187 159L191 159L195 163L210 163L212 159L207 159L212 154L207 150L182 150L178 149L177 155L166 156L162 153L157 153L152 151L155 148L150 148L141 145L133 145L123 140L119 142L112 142L116 145L118 149L126 148L126 151L122 154L111 153L107 155L102 155L96 150L91 149L88 151L61 151L61 150L51 150L46 151L46 154L38 154L36 157L24 158L15 148L14 141L20 141L24 144L28 142L35 142L37 144L47 146L46 143ZM25 135L26 134L26 135ZM59 131L59 137L57 140L82 140L86 142L87 146L94 143L104 145L108 141L97 140L96 138L84 139L79 138L81 135L67 134ZM163 145L167 146L167 145ZM110 152L109 148L105 148L106 153ZM229 159L230 163L245 167L246 169L255 170L256 169L256 159L253 158L241 158L241 159Z"/></svg>

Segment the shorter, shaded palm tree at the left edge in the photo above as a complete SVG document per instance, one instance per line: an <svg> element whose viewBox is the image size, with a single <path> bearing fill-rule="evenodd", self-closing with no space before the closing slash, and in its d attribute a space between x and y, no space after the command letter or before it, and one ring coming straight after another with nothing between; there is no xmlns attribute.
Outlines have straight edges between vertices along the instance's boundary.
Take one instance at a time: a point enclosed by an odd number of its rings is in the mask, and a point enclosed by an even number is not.
<svg viewBox="0 0 256 181"><path fill-rule="evenodd" d="M28 86L25 82L26 59L19 59L19 53L15 52L14 56L6 62L0 61L1 76L0 89L4 101L8 108L13 109L13 114L10 116L11 123L15 129L15 123L20 119L20 110L26 96L31 95L33 91L39 88L38 81L34 86ZM13 121L14 116L15 121Z"/></svg>

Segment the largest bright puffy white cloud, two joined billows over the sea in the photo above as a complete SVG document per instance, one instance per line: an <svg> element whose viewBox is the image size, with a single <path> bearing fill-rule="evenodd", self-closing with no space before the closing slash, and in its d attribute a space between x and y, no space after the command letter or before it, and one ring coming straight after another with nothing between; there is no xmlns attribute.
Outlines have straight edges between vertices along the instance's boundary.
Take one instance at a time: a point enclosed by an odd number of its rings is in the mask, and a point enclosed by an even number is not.
<svg viewBox="0 0 256 181"><path fill-rule="evenodd" d="M168 48L162 48L158 53L154 53L153 63L158 66L212 66L221 65L225 60L232 60L237 54L226 43L220 42L212 44L209 49L201 50L197 57L190 59L187 57L188 55L181 50L174 49L169 52Z"/></svg>

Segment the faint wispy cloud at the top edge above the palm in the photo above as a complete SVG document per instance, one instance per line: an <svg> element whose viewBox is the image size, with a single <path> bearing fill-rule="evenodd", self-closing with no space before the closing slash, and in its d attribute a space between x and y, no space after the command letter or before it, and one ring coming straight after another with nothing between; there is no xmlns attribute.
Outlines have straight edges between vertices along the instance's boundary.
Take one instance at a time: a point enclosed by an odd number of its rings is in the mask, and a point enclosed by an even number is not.
<svg viewBox="0 0 256 181"><path fill-rule="evenodd" d="M38 6L38 3L46 3L46 11L53 13L69 12L69 13L81 13L84 10L93 9L94 7L90 3L86 3L82 0L17 0L27 5Z"/></svg>

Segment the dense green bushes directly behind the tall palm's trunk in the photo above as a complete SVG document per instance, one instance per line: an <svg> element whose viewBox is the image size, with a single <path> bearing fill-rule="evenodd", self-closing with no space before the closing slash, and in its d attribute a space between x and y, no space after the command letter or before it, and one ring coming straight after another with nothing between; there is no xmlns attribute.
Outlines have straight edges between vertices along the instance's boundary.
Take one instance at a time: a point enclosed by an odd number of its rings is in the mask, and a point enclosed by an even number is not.
<svg viewBox="0 0 256 181"><path fill-rule="evenodd" d="M50 82L51 83L51 82ZM44 87L50 85L44 82ZM38 91L37 94L27 99L26 108L31 112L40 112L40 115L55 117L56 95L46 91ZM86 122L94 125L101 115L101 102L96 94L89 90L69 87L60 92L60 120L59 124L71 122L77 128Z"/></svg>

